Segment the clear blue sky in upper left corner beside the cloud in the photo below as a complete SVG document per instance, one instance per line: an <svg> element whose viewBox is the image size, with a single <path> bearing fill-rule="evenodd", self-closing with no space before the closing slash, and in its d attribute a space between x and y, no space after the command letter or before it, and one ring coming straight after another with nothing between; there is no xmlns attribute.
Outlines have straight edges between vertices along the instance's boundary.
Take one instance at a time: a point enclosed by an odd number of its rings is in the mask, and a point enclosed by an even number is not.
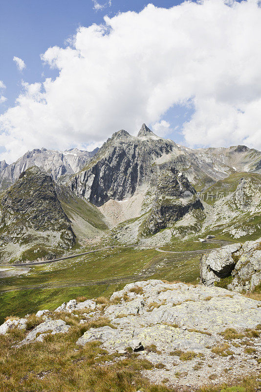
<svg viewBox="0 0 261 392"><path fill-rule="evenodd" d="M151 1L149 1L151 2ZM63 47L79 26L103 23L105 15L141 11L149 2L113 0L101 10L91 0L1 0L0 2L0 79L7 86L3 113L14 105L21 91L21 79L28 83L55 77L58 72L43 64L40 54L51 46ZM159 7L171 7L180 1L153 1ZM13 57L22 58L26 68L20 73Z"/></svg>

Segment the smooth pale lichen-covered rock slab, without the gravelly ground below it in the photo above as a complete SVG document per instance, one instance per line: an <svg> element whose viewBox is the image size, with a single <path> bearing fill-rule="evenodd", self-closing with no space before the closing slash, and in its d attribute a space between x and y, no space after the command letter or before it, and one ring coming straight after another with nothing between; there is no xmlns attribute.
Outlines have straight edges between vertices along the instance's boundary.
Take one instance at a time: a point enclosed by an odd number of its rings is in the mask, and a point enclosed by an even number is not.
<svg viewBox="0 0 261 392"><path fill-rule="evenodd" d="M143 293L132 292L134 285L142 288ZM172 350L174 346L205 351L206 336L189 332L189 329L217 335L224 328L254 328L261 322L258 301L240 294L231 295L231 292L218 287L193 287L149 280L129 284L114 293L111 299L123 298L126 294L133 299L122 300L105 309L105 316L117 329L109 326L90 329L78 340L78 344L97 339L102 340L107 348L123 349L130 345L131 340L137 339L143 345L157 344L164 351ZM186 336L185 340L180 334Z"/></svg>

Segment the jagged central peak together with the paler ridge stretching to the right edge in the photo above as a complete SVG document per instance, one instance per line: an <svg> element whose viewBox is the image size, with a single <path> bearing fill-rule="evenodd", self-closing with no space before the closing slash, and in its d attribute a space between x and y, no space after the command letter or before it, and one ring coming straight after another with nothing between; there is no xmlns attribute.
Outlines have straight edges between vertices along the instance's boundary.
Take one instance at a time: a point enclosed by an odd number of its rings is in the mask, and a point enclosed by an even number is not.
<svg viewBox="0 0 261 392"><path fill-rule="evenodd" d="M136 137L125 130L114 133L75 175L71 188L101 206L155 185L160 173L171 167L185 172L198 189L206 188L237 171L258 172L261 152L239 147L193 150L156 136L143 124Z"/></svg>

